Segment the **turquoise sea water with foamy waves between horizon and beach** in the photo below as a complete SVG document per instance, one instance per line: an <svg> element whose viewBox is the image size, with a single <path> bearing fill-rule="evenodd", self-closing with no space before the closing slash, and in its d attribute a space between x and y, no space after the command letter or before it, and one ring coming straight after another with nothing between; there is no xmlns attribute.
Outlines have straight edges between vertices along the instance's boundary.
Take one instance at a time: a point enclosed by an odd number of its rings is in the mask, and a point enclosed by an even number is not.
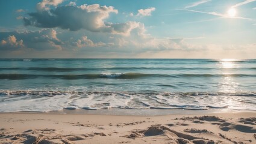
<svg viewBox="0 0 256 144"><path fill-rule="evenodd" d="M0 59L0 112L256 110L256 59Z"/></svg>

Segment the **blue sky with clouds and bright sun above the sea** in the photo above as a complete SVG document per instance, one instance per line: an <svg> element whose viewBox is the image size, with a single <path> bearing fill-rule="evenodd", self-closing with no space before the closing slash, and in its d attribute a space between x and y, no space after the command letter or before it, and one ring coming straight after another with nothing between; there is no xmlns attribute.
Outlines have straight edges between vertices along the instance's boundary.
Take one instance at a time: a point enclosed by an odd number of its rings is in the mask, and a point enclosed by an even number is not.
<svg viewBox="0 0 256 144"><path fill-rule="evenodd" d="M256 58L256 0L1 0L0 58Z"/></svg>

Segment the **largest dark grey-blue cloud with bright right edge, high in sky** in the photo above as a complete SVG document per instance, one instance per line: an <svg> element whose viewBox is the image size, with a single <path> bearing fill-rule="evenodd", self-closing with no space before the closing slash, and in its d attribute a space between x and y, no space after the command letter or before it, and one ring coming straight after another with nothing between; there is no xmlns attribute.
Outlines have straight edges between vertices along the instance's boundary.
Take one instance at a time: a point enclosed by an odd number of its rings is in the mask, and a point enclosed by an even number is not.
<svg viewBox="0 0 256 144"><path fill-rule="evenodd" d="M91 32L109 32L111 34L130 35L133 29L140 26L139 22L110 23L105 22L110 13L118 13L114 7L93 5L71 5L57 7L51 11L28 13L30 17L23 19L26 26L39 28L61 28L70 31L86 29Z"/></svg>

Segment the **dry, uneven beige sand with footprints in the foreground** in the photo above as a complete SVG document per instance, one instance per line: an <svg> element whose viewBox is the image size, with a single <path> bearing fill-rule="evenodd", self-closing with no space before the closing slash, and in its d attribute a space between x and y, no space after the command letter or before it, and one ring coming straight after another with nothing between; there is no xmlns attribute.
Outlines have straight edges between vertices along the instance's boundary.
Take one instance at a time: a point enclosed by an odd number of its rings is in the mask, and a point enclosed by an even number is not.
<svg viewBox="0 0 256 144"><path fill-rule="evenodd" d="M256 143L255 117L0 113L0 143Z"/></svg>

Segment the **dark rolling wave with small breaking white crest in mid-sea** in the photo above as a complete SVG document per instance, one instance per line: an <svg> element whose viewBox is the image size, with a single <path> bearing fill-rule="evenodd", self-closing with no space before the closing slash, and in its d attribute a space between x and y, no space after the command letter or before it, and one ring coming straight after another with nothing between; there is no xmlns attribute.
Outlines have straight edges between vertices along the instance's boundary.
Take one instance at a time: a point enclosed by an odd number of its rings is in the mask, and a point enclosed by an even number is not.
<svg viewBox="0 0 256 144"><path fill-rule="evenodd" d="M146 74L146 73L113 73L113 74L0 74L0 79L22 80L22 79L143 79L153 77L256 77L256 74Z"/></svg>

